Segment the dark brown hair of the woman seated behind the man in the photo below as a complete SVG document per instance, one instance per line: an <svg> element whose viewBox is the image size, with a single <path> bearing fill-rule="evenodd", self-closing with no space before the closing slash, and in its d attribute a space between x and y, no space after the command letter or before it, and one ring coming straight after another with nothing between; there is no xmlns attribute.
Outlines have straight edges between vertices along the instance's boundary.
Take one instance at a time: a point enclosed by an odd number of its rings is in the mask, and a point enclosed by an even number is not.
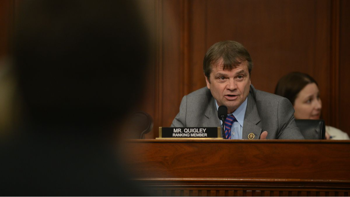
<svg viewBox="0 0 350 197"><path fill-rule="evenodd" d="M299 92L310 83L317 82L305 73L293 72L283 76L277 83L275 94L286 97L294 106L294 101Z"/></svg>

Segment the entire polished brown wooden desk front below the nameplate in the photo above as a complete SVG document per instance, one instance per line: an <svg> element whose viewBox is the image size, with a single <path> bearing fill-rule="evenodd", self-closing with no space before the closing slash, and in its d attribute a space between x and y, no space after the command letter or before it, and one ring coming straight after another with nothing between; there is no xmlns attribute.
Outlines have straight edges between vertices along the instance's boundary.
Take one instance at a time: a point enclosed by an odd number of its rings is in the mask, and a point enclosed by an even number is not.
<svg viewBox="0 0 350 197"><path fill-rule="evenodd" d="M136 179L164 196L350 196L350 141L129 140Z"/></svg>

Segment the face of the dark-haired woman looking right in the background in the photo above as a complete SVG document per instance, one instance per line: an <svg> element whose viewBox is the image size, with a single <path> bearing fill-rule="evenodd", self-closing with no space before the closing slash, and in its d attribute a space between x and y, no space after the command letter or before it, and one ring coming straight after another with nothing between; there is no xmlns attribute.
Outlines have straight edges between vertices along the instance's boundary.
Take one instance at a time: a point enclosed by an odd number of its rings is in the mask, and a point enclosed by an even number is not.
<svg viewBox="0 0 350 197"><path fill-rule="evenodd" d="M294 101L295 119L320 119L322 102L316 83L307 84Z"/></svg>

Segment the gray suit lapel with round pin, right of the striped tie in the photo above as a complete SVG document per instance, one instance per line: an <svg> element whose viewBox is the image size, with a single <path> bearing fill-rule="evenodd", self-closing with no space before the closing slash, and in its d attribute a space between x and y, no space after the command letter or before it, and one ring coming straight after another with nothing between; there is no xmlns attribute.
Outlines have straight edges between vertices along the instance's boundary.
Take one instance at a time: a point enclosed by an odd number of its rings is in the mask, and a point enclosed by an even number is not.
<svg viewBox="0 0 350 197"><path fill-rule="evenodd" d="M261 134L261 127L257 124L261 121L257 104L253 96L254 87L250 87L251 91L248 95L247 109L245 110L244 123L243 123L243 132L242 139L248 139L250 133L254 134L254 140L258 140ZM253 89L253 90L252 90Z"/></svg>

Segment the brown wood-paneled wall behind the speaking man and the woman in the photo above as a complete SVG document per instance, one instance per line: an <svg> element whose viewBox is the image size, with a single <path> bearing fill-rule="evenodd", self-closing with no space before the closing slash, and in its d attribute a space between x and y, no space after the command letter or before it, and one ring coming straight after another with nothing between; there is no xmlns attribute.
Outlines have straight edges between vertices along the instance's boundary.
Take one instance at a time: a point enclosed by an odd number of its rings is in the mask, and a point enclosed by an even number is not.
<svg viewBox="0 0 350 197"><path fill-rule="evenodd" d="M350 134L348 1L154 0L147 4L153 9L157 40L143 108L155 122L147 138L158 137L159 126L170 126L184 95L205 86L203 57L222 40L235 40L247 48L254 63L251 81L257 89L273 93L280 77L293 71L313 76L326 124Z"/></svg>

